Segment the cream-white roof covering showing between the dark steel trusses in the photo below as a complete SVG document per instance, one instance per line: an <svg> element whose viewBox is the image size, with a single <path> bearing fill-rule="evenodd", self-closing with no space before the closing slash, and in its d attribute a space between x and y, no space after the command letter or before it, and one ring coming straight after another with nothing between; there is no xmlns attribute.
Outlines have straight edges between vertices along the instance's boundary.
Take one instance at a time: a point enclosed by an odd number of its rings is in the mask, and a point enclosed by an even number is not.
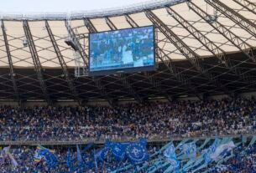
<svg viewBox="0 0 256 173"><path fill-rule="evenodd" d="M214 9L207 5L204 0L194 0L193 3L201 8L208 14L213 14ZM228 5L239 14L243 15L244 18L250 19L255 23L256 15L251 13L248 9L243 8L238 3L234 3L232 0L222 0L222 3ZM251 0L255 3L255 0ZM239 49L234 46L230 41L227 40L222 34L219 33L215 28L209 23L201 18L199 15L193 12L193 10L188 8L187 3L180 3L175 6L171 6L176 13L178 13L185 21L191 23L199 32L201 32L206 38L209 38L213 43L215 43L219 48L222 48L226 53L236 52ZM187 28L183 28L180 23L178 23L175 18L170 16L166 12L165 8L159 8L152 10L156 16L167 25L171 31L173 31L187 46L189 46L193 51L195 51L199 56L206 57L212 56L212 53L207 50L207 48L195 38L191 33L187 31ZM238 24L232 22L230 18L227 18L222 13L217 13L217 22L222 23L226 28L228 28L232 33L235 33L238 38L241 38L245 43L252 47L256 47L256 38L248 33L244 28L238 26ZM138 23L138 26L148 26L152 23L149 18L146 17L145 13L133 13L129 14L130 18ZM18 19L18 17L17 17ZM53 48L53 44L50 41L49 33L45 28L45 21L39 18L40 21L29 21L29 28L34 39L34 45L36 47L37 53L39 55L39 60L44 68L50 67L60 67L59 59ZM118 28L131 28L129 23L126 21L125 15L111 16L109 19ZM91 23L98 32L110 30L106 23L106 18L91 18ZM68 31L65 27L65 20L49 20L50 29L54 34L55 41L60 48L60 53L65 59L65 63L69 67L75 66L75 55L74 51L65 43L65 39L68 38ZM33 67L33 59L29 47L25 47L23 40L25 40L23 22L19 18L18 21L12 21L10 18L4 19L4 25L6 28L8 45L10 49L10 54L13 60L13 65L17 67ZM84 19L74 19L71 20L71 28L76 33L76 37L81 43L81 47L85 49L85 53L88 54L88 28L86 28ZM158 31L159 32L159 31ZM177 48L170 42L169 39L165 38L163 33L158 33L158 46L162 48L166 53L169 54L171 59L185 59L185 57L178 51ZM248 48L245 45L243 48ZM0 31L0 67L8 66L8 57L6 53L5 43L3 40L3 32Z"/></svg>

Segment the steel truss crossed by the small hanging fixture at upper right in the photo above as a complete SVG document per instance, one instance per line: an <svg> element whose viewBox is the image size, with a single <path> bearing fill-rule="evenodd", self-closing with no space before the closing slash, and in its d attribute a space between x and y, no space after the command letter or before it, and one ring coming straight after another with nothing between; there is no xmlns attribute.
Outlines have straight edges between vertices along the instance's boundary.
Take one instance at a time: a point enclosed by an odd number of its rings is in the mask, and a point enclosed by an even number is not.
<svg viewBox="0 0 256 173"><path fill-rule="evenodd" d="M209 18L209 14L204 12L201 8L197 7L195 3L190 3L191 10L194 11L198 16L200 16L203 20ZM232 43L236 48L238 48L248 59L251 59L253 62L256 62L256 51L253 49L251 45L243 41L242 38L239 38L236 34L232 33L227 27L222 25L216 21L215 23L208 23L212 26L212 28L216 29L218 33L222 34L224 38Z"/></svg>

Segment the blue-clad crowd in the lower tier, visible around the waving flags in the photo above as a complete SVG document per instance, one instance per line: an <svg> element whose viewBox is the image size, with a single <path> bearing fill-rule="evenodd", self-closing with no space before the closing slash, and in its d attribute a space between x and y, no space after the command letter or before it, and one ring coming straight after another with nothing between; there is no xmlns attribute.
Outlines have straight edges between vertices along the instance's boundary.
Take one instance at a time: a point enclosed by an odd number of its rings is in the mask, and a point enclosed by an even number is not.
<svg viewBox="0 0 256 173"><path fill-rule="evenodd" d="M160 147L156 145L149 145L148 151L149 155L154 154L159 151ZM21 148L12 148L11 152L13 153L14 158L18 162L18 166L14 167L10 160L5 160L0 162L0 168L2 173L66 173L66 172L86 172L94 173L101 172L107 173L112 172L112 170L120 169L125 165L129 165L128 160L117 161L112 157L108 158L106 162L97 160L97 166L95 165L95 159L93 158L93 153L95 149L86 150L81 152L83 160L90 161L93 163L91 167L84 166L80 169L75 169L75 171L70 171L67 165L67 147L55 147L55 154L58 157L58 165L55 168L50 168L45 161L41 161L37 164L34 163L34 153L35 147L24 146ZM228 160L222 162L221 165L208 165L204 171L196 172L210 172L210 173L231 173L231 172L241 172L241 173L255 173L256 172L256 144L250 146L239 145L234 150L229 151L232 153L232 157L229 157ZM92 153L92 154L91 154ZM74 161L74 167L76 167L76 147L71 148L71 158ZM91 155L91 156L88 156ZM112 158L112 159L111 159ZM150 162L150 160L149 160ZM145 162L144 164L147 165ZM137 165L141 167L142 165ZM150 167L150 164L149 164ZM182 169L182 165L180 167ZM128 170L122 170L120 172L128 173L134 170L134 166L129 167ZM163 173L165 169L159 169L156 173ZM138 172L145 172L144 170Z"/></svg>

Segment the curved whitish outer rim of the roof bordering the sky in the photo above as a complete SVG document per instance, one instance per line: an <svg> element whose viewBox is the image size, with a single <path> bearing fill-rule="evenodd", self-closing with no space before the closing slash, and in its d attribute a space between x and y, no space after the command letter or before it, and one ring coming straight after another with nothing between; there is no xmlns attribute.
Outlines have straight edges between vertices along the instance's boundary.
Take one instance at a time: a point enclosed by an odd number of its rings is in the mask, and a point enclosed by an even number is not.
<svg viewBox="0 0 256 173"><path fill-rule="evenodd" d="M71 13L2 13L0 18L9 21L20 21L20 20L71 20L81 18L102 18L102 17L115 17L122 16L124 14L141 13L145 10L153 10L157 8L165 8L166 6L173 6L179 3L185 3L188 0L154 0L147 1L144 3L135 3L129 6L123 6L120 8L107 8L98 9L91 11L82 12L71 12Z"/></svg>

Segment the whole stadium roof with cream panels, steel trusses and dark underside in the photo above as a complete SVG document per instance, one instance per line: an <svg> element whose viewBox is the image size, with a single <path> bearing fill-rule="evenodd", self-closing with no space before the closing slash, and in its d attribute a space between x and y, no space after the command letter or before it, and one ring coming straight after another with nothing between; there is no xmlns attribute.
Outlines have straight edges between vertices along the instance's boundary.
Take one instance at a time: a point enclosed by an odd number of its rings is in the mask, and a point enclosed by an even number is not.
<svg viewBox="0 0 256 173"><path fill-rule="evenodd" d="M68 23L69 25L67 25ZM234 94L255 90L255 0L154 1L106 11L3 14L0 99L113 99ZM159 69L74 78L88 33L154 24ZM28 42L24 46L24 42Z"/></svg>

